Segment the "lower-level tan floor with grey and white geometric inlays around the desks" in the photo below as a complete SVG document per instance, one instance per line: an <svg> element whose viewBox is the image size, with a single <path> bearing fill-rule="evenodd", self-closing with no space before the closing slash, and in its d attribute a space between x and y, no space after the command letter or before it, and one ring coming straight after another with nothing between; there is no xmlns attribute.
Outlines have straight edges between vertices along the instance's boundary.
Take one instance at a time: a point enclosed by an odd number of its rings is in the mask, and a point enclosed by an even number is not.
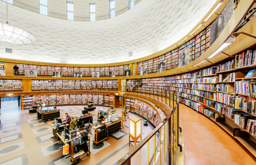
<svg viewBox="0 0 256 165"><path fill-rule="evenodd" d="M61 118L65 113L79 115L84 106L59 106ZM97 111L106 110L109 107L96 107L91 111L95 114L94 123L97 119ZM118 108L121 115L123 107ZM69 165L70 158L63 156L61 144L52 138L52 128L47 122L37 120L35 114L29 114L28 110L19 110L17 101L2 102L0 126L0 165ZM129 117L138 117L129 114ZM85 156L74 164L114 164L121 156L127 153L132 146L128 145L129 120L124 121L124 128L116 132L102 143L95 146L91 136L91 155ZM90 126L91 129L92 126ZM151 132L153 126L142 125L142 138Z"/></svg>

